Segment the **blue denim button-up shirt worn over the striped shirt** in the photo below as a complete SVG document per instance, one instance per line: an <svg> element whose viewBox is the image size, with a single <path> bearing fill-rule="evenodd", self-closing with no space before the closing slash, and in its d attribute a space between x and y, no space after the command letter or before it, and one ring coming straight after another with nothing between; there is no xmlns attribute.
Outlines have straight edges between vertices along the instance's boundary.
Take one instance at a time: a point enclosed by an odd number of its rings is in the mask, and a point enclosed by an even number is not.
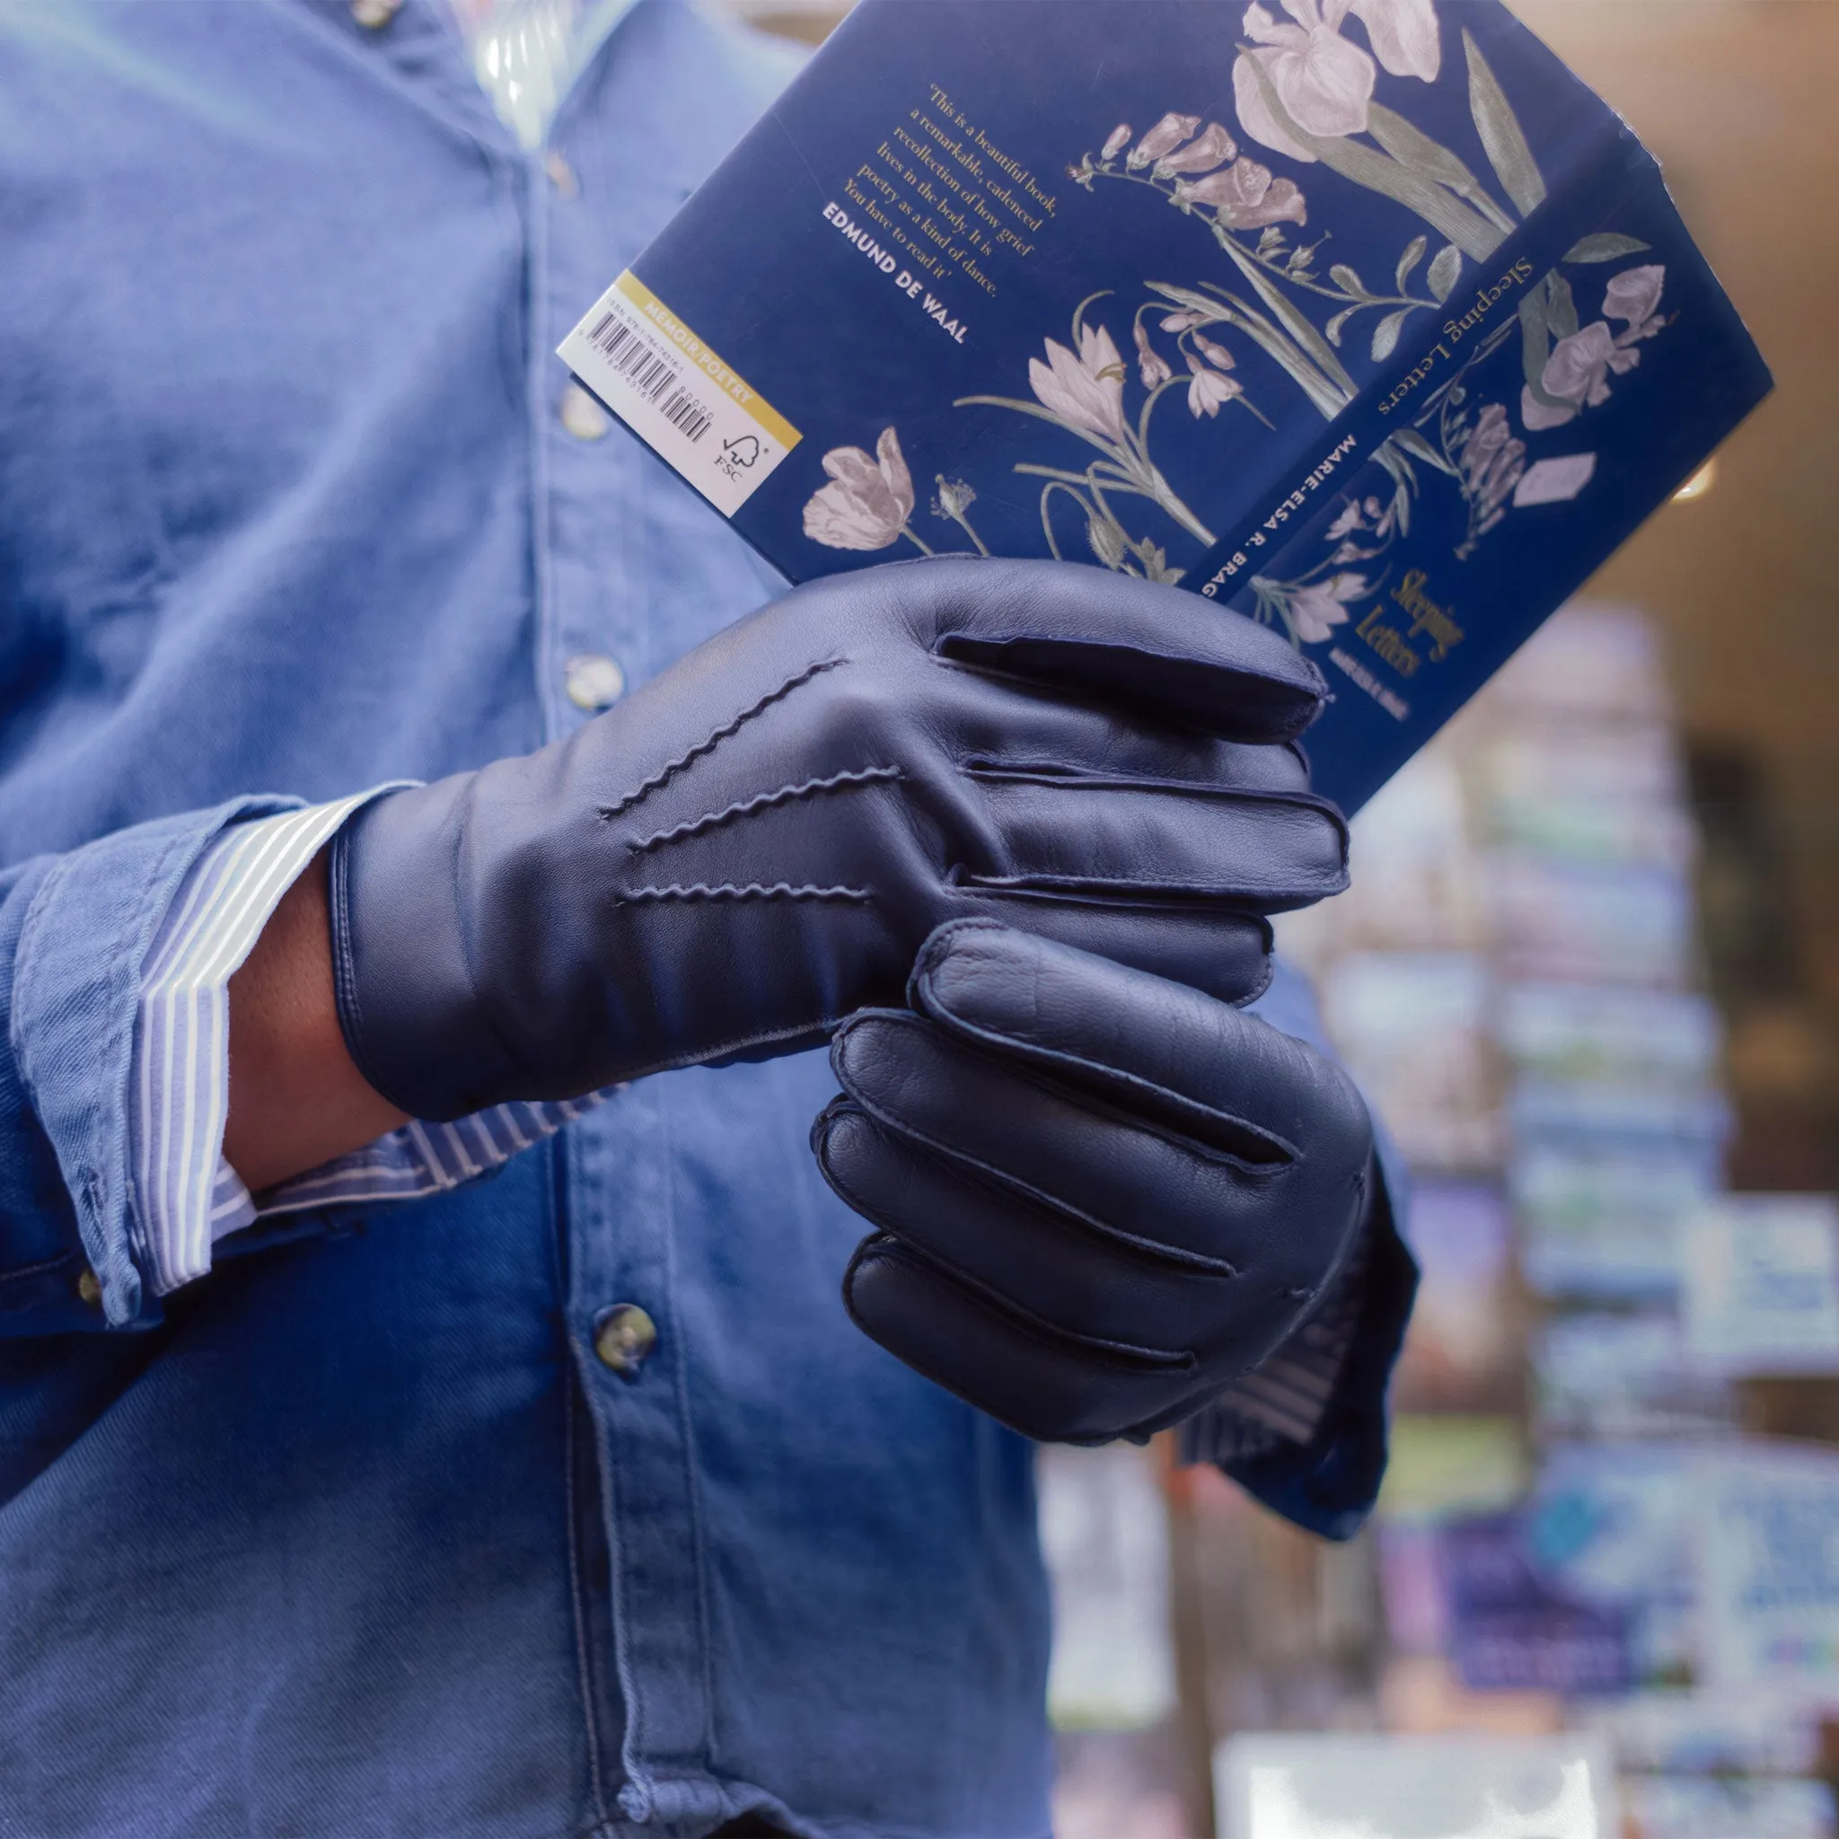
<svg viewBox="0 0 1839 1839"><path fill-rule="evenodd" d="M570 657L778 585L552 349L783 75L642 0L557 162L428 0L0 7L0 1833L1046 1828L1030 1449L848 1324L822 1056L164 1302L138 1243L134 999L221 828L531 748ZM1328 1532L1385 1247L1313 1444L1232 1466Z"/></svg>

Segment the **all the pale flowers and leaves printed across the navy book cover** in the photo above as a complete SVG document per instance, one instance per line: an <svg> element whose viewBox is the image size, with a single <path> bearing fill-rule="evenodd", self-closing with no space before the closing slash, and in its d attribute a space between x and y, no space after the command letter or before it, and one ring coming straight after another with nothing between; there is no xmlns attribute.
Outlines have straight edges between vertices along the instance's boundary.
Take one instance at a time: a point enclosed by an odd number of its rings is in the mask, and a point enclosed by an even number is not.
<svg viewBox="0 0 1839 1839"><path fill-rule="evenodd" d="M1414 86L1436 83L1453 57L1486 175L1409 120ZM1381 103L1381 90L1398 107ZM1370 256L1341 259L1333 224L1311 215L1324 171L1416 223L1383 270ZM1455 316L1460 337L1479 324L1480 309L1462 318L1453 305L1458 285L1547 197L1495 72L1468 29L1445 31L1434 0L1282 0L1282 17L1252 4L1230 109L1096 123L1089 145L1068 149L1067 177L1094 197L1127 193L1144 211L1188 219L1194 272L1144 276L1135 298L1087 296L1041 329L1026 394L993 386L956 406L1037 423L1026 458L1006 471L1037 491L1048 554L1170 583L1219 537L1195 508L1206 476L1258 465L1258 434L1298 397L1324 423L1346 410L1361 392L1354 349L1379 364L1420 326ZM1399 590L1388 552L1425 495L1458 506L1460 563L1504 520L1585 493L1598 460L1591 412L1670 324L1666 270L1651 256L1635 237L1602 232L1530 280L1517 314L1414 397L1372 462L1354 469L1311 544L1274 550L1282 577L1245 577L1247 611L1298 645L1322 644L1383 588ZM1251 353L1269 360L1258 384L1241 362ZM1173 443L1170 417L1210 445ZM1177 445L1181 465L1170 458ZM977 500L997 482L934 473L921 504L914 463L925 471L897 427L875 452L831 449L804 533L837 550L988 554Z"/></svg>

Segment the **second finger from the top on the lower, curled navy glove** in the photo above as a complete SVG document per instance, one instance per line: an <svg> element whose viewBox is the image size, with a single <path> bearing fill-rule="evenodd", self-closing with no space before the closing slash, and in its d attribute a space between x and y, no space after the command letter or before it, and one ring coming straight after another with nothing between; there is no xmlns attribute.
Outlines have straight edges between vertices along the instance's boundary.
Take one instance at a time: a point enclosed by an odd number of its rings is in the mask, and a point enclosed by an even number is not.
<svg viewBox="0 0 1839 1839"><path fill-rule="evenodd" d="M831 1067L890 1131L1144 1256L1238 1271L1265 1298L1311 1289L1339 1256L1354 1184L1320 1205L1296 1153L1236 1120L1124 1111L905 1010L851 1015Z"/></svg>

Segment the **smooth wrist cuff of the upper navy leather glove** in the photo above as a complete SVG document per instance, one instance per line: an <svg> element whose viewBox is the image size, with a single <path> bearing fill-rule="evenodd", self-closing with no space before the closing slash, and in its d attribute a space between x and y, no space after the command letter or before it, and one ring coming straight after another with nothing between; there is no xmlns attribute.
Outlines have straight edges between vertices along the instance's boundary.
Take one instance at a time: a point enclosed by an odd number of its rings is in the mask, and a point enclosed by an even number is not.
<svg viewBox="0 0 1839 1839"><path fill-rule="evenodd" d="M379 798L331 851L333 993L346 1048L392 1105L432 1122L524 1096L530 1083L473 982L458 897L473 778Z"/></svg>

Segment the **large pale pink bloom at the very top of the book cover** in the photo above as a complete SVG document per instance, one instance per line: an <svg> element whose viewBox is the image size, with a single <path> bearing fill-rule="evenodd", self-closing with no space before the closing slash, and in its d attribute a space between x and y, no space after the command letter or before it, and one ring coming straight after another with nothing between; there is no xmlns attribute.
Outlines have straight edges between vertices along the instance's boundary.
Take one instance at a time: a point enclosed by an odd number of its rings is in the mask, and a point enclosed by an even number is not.
<svg viewBox="0 0 1839 1839"><path fill-rule="evenodd" d="M1366 26L1379 63L1396 77L1431 83L1442 68L1433 0L1284 0L1291 22L1256 0L1245 9L1245 35L1254 44L1232 68L1239 127L1256 142L1293 160L1313 160L1278 123L1265 101L1260 72L1296 127L1317 140L1339 140L1366 129L1377 75L1374 59L1341 37L1352 11Z"/></svg>

